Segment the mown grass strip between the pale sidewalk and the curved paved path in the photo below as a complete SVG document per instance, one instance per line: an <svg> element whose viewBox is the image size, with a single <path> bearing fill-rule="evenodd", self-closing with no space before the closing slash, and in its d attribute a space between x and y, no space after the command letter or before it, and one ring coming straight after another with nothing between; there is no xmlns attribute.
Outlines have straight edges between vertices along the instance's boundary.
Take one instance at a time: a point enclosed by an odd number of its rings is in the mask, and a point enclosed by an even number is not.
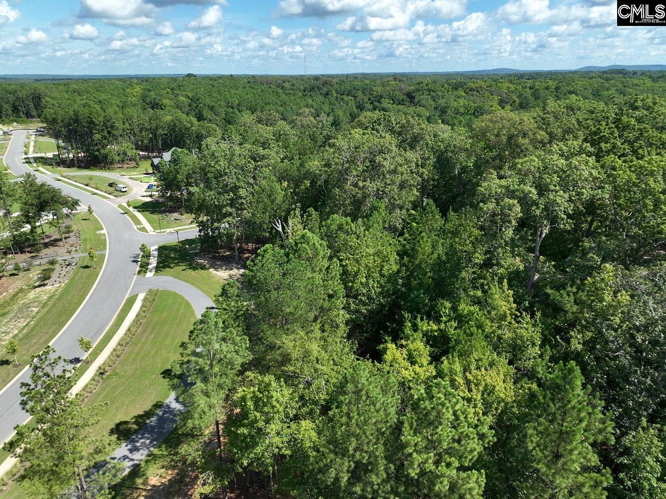
<svg viewBox="0 0 666 499"><path fill-rule="evenodd" d="M127 352L87 402L109 402L99 423L91 427L93 433L112 436L120 445L155 414L171 392L169 367L194 320L194 310L182 296L159 291Z"/></svg>

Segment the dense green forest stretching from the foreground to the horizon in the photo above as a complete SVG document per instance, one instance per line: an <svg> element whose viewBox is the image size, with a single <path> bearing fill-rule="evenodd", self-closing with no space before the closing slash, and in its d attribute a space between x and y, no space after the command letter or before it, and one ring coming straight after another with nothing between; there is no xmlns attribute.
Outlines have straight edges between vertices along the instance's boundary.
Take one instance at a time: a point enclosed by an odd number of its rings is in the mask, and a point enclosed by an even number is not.
<svg viewBox="0 0 666 499"><path fill-rule="evenodd" d="M665 96L659 72L190 76L0 83L0 119L77 166L178 148L161 194L202 250L251 254L173 366L197 494L658 499Z"/></svg>

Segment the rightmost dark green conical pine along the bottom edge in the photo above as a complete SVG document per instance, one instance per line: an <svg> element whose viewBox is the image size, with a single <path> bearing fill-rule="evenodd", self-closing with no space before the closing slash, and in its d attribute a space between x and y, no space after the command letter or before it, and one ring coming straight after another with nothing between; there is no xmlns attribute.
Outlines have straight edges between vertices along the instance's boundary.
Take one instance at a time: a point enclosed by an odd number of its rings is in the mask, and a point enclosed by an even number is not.
<svg viewBox="0 0 666 499"><path fill-rule="evenodd" d="M613 442L613 424L602 402L583 388L574 362L555 366L533 388L510 442L514 486L528 498L604 498L611 474L595 447Z"/></svg>

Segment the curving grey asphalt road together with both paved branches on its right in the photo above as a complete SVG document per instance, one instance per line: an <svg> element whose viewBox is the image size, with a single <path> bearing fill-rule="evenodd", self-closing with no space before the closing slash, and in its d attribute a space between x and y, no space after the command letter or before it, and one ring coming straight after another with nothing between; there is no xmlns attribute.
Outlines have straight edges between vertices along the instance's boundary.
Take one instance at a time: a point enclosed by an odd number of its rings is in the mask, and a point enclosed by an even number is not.
<svg viewBox="0 0 666 499"><path fill-rule="evenodd" d="M140 259L139 247L141 243L146 243L149 247L171 243L176 241L176 234L140 233L129 217L112 203L111 200L101 199L96 195L61 183L53 178L56 177L55 175L41 175L41 173L34 172L23 161L26 137L27 131L14 131L5 155L5 165L18 176L25 173L35 173L39 181L58 187L64 193L81 200L81 204L84 206L91 205L107 234L107 256L95 286L93 286L93 289L83 304L81 304L79 310L77 310L63 330L51 341L51 346L53 346L58 355L66 359L83 358L83 352L78 344L79 336L83 335L91 338L93 343L96 344L107 333L107 328L109 328L115 319L126 298L131 296L131 294L145 292L149 288L165 288L182 294L182 296L190 301L197 315L206 306L212 305L210 299L202 292L178 279L165 276L154 278L137 277ZM179 232L179 236L180 239L190 239L196 237L197 233L196 229L192 229ZM113 332L109 332L108 334L113 334ZM23 424L29 419L29 415L20 405L20 385L21 382L29 381L29 376L30 370L29 366L27 366L5 388L0 390L0 444L13 436L14 427L17 424ZM172 405L176 404L173 400L167 400L163 412L172 412L172 406L168 406L169 402ZM151 442L155 445L168 434L167 431L160 438L159 435L150 436L150 432L146 434L145 430L147 428L143 428L139 432L144 432L140 438L150 438ZM154 445L141 446L141 452L133 454L131 452L131 441L129 443L129 446L127 444L124 446L130 449L129 453L126 452L126 462L138 462L147 453L146 450L148 448L154 448Z"/></svg>

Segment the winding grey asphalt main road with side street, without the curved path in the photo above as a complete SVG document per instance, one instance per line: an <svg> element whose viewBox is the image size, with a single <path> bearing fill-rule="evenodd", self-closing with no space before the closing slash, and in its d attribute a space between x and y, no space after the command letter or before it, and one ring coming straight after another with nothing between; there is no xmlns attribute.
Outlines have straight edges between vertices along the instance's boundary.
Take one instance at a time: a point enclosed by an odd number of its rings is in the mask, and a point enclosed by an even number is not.
<svg viewBox="0 0 666 499"><path fill-rule="evenodd" d="M79 336L83 334L87 338L92 338L93 342L97 342L113 322L115 314L129 295L135 282L141 243L147 243L151 247L163 245L176 241L176 235L139 233L127 215L108 201L33 172L23 163L26 135L25 130L14 131L5 156L5 165L16 175L35 173L39 181L59 187L63 192L81 200L85 206L91 205L107 231L107 258L97 285L89 294L85 304L51 343L57 354L77 362L77 359L84 357L77 342ZM180 238L189 239L196 237L196 234L196 229L184 231L180 233ZM25 422L28 418L28 414L21 409L19 402L20 384L28 381L29 376L29 368L26 368L11 384L0 391L0 444L13 435L14 426Z"/></svg>

